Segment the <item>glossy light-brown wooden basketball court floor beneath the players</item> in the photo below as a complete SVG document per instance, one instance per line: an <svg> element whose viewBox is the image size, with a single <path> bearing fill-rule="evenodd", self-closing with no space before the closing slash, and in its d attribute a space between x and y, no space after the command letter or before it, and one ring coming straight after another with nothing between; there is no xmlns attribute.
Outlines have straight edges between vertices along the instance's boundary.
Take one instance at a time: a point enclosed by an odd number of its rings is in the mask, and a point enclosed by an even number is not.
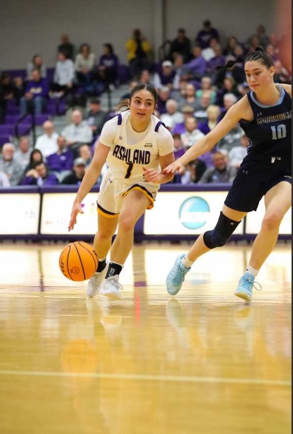
<svg viewBox="0 0 293 434"><path fill-rule="evenodd" d="M288 434L291 244L246 304L251 246L200 258L176 298L165 279L188 245L135 246L121 302L61 274L64 244L0 244L1 434Z"/></svg>

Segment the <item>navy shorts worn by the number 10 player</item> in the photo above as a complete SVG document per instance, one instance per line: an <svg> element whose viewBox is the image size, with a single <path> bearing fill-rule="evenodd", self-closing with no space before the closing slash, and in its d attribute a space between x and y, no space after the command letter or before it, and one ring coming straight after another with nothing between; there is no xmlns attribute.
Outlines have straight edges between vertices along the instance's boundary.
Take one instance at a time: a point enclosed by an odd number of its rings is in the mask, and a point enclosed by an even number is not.
<svg viewBox="0 0 293 434"><path fill-rule="evenodd" d="M261 160L246 156L237 171L225 205L235 211L256 211L261 198L281 181L292 184L292 163L288 157Z"/></svg>

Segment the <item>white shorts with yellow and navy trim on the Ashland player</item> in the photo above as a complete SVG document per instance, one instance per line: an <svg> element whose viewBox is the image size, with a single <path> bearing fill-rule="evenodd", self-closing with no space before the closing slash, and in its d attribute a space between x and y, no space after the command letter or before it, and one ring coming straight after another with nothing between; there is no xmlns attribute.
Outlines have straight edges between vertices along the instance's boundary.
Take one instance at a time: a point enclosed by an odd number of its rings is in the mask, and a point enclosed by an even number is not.
<svg viewBox="0 0 293 434"><path fill-rule="evenodd" d="M148 184L147 182L138 181L135 184L127 184L120 179L115 179L112 176L105 176L98 194L97 210L104 217L118 217L122 208L124 197L131 190L139 190L151 201L147 207L148 210L154 206L154 201L159 188Z"/></svg>

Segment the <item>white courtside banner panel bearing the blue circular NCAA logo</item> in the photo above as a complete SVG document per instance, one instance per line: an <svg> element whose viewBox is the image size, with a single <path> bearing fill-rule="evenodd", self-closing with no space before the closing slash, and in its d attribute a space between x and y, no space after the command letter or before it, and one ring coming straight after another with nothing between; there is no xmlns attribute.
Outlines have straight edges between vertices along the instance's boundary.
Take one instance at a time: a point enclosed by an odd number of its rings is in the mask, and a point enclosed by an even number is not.
<svg viewBox="0 0 293 434"><path fill-rule="evenodd" d="M215 227L227 192L158 193L146 211L146 235L199 235ZM234 232L243 234L243 221Z"/></svg>

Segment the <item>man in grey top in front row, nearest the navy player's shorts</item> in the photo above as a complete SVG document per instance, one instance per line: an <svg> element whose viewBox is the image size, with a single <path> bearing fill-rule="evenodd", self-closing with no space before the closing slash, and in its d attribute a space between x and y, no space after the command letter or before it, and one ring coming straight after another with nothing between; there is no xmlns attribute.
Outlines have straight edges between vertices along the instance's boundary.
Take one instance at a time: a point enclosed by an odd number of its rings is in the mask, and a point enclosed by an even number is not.
<svg viewBox="0 0 293 434"><path fill-rule="evenodd" d="M236 176L235 167L226 163L222 152L213 154L213 167L209 167L199 180L199 184L223 184L233 182Z"/></svg>

